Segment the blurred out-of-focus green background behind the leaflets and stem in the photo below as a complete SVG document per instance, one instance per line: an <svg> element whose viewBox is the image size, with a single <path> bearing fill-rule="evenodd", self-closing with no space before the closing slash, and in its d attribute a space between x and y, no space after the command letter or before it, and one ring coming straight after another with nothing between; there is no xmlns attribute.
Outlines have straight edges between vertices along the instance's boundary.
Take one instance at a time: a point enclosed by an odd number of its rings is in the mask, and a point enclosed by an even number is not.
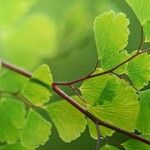
<svg viewBox="0 0 150 150"><path fill-rule="evenodd" d="M30 71L47 63L55 81L84 76L97 62L94 18L109 10L127 14L131 34L126 49L137 49L140 24L124 0L0 0L0 58ZM13 79L10 90L20 88L16 74L10 77L4 70L3 75ZM91 150L95 144L88 129L68 144L60 140L53 127L49 141L39 149Z"/></svg>

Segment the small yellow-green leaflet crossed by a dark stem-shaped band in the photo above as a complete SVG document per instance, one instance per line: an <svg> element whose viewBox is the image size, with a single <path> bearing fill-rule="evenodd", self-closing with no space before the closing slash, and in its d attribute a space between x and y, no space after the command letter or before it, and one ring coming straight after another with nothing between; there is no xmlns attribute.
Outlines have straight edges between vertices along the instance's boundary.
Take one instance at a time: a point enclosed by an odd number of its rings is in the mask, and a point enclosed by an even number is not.
<svg viewBox="0 0 150 150"><path fill-rule="evenodd" d="M41 65L23 89L26 98L36 106L42 106L49 101L52 84L52 74L47 65Z"/></svg>

